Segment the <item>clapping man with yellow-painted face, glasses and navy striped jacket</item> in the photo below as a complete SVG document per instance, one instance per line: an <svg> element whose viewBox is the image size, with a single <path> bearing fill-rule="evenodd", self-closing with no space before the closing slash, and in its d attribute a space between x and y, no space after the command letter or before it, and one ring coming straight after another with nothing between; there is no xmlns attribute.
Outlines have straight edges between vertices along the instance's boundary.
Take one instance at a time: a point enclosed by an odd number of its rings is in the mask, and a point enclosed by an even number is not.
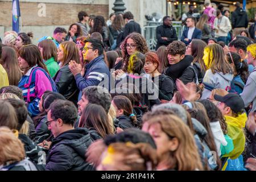
<svg viewBox="0 0 256 182"><path fill-rule="evenodd" d="M87 62L82 69L81 64L75 61L69 63L69 69L75 76L77 88L79 88L79 100L82 90L88 86L97 86L104 82L104 87L110 89L110 72L104 61L104 46L100 40L87 39L82 55Z"/></svg>

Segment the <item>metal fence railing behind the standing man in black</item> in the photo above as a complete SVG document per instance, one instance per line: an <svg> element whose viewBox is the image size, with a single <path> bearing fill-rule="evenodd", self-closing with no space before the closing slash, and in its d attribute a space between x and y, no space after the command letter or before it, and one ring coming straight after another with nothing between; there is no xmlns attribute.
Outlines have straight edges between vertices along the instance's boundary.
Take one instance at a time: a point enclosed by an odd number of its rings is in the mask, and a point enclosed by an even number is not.
<svg viewBox="0 0 256 182"><path fill-rule="evenodd" d="M156 47L156 27L163 24L162 22L150 22L147 26L143 27L142 34L146 39L147 46L150 50L154 50ZM182 24L181 22L172 22L172 26L175 28L177 33L177 38L180 40L182 35Z"/></svg>

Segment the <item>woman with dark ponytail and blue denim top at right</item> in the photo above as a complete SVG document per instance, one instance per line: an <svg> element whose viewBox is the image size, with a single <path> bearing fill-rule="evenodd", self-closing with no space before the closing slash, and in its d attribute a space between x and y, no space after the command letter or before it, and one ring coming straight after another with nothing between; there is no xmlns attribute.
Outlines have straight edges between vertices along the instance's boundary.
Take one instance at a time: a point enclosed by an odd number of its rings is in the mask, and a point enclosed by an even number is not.
<svg viewBox="0 0 256 182"><path fill-rule="evenodd" d="M243 87L245 87L249 76L248 65L245 61L241 61L240 55L235 52L229 52L225 58L234 69L234 78L231 82L231 90L240 94L243 92Z"/></svg>

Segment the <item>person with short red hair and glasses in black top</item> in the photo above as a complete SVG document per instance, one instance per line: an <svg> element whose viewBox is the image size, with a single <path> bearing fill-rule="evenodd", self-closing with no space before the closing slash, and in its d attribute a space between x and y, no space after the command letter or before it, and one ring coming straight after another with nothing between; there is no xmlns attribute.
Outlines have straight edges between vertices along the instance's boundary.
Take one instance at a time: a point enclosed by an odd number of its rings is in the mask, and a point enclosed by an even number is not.
<svg viewBox="0 0 256 182"><path fill-rule="evenodd" d="M154 52L147 52L145 54L146 62L144 64L144 71L152 78L152 81L159 87L159 100L170 101L174 94L174 81L158 71L160 61L158 55Z"/></svg>

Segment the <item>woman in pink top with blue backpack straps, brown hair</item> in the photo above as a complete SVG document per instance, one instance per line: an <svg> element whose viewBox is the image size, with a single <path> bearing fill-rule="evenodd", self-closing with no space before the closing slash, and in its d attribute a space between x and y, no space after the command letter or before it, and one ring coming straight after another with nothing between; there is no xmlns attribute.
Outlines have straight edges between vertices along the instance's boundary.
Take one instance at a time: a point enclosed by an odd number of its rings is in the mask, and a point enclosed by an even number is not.
<svg viewBox="0 0 256 182"><path fill-rule="evenodd" d="M18 61L23 71L18 87L22 89L28 111L32 117L35 117L40 112L38 106L43 93L46 90L57 92L57 88L48 74L37 46L30 44L20 48Z"/></svg>

